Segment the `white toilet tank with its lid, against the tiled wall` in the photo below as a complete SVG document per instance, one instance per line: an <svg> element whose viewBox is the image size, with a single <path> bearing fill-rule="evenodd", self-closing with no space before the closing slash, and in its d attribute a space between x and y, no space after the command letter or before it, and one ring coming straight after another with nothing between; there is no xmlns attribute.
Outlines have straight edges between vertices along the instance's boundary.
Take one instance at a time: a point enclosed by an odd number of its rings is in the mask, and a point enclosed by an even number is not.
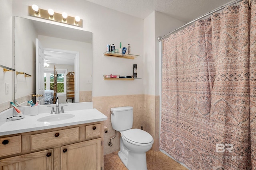
<svg viewBox="0 0 256 170"><path fill-rule="evenodd" d="M111 108L111 124L116 131L124 131L132 128L133 107Z"/></svg>

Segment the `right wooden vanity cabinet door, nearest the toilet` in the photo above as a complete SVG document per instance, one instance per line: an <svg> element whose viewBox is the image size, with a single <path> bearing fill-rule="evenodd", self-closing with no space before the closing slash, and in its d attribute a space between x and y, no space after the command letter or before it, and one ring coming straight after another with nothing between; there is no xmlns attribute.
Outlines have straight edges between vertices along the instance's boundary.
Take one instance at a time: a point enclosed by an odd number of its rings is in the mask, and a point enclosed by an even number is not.
<svg viewBox="0 0 256 170"><path fill-rule="evenodd" d="M101 138L61 147L61 170L101 170Z"/></svg>

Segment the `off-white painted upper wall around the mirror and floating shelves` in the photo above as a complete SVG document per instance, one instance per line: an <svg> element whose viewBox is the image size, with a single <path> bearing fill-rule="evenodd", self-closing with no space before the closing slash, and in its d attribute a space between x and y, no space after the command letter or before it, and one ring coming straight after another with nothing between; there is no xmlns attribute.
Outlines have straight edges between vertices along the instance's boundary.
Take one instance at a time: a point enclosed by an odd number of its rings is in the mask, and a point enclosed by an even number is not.
<svg viewBox="0 0 256 170"><path fill-rule="evenodd" d="M33 2L33 3L32 3ZM28 16L28 6L37 4L41 9L52 8L54 11L68 12L70 16L80 16L83 27L58 23ZM61 4L61 5L60 5ZM86 84L92 82L92 96L117 96L129 94L143 94L143 79L136 81L105 81L104 74L131 75L133 64L138 64L138 77L143 78L143 20L127 14L110 10L97 4L78 0L0 0L0 63L8 67L14 67L12 53L13 17L18 16L31 20L38 20L64 27L71 27L92 32L92 72L93 75ZM109 24L109 18L114 18L115 24ZM134 60L104 57L106 45L113 43L116 47L122 42L123 46L131 45L131 53L140 55ZM14 98L14 86L12 85L12 73L5 74L0 71L0 110L10 107L10 101ZM80 74L81 75L81 74ZM84 78L86 80L86 78ZM10 92L5 94L5 83L9 83ZM115 89L114 91L112 89ZM125 89L125 90L124 90ZM80 89L88 91L87 89ZM31 93L30 93L31 94ZM25 95L23 95L25 96ZM22 97L22 96L20 96Z"/></svg>

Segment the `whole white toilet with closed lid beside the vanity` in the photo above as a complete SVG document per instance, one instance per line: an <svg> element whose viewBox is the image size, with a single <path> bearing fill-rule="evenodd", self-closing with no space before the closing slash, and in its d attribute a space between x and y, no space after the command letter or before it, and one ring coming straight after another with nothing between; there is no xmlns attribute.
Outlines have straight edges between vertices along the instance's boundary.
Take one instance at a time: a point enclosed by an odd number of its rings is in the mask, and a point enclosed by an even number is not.
<svg viewBox="0 0 256 170"><path fill-rule="evenodd" d="M111 108L113 129L121 133L118 156L128 170L147 170L146 152L151 149L153 137L141 129L131 129L133 108Z"/></svg>

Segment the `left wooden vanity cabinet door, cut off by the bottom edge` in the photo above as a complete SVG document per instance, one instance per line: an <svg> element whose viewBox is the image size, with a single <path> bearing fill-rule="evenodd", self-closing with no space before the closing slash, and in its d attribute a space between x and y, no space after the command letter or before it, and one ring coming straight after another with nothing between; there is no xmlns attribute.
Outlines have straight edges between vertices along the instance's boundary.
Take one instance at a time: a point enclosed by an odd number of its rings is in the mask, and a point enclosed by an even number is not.
<svg viewBox="0 0 256 170"><path fill-rule="evenodd" d="M1 170L53 170L53 149L0 160Z"/></svg>

